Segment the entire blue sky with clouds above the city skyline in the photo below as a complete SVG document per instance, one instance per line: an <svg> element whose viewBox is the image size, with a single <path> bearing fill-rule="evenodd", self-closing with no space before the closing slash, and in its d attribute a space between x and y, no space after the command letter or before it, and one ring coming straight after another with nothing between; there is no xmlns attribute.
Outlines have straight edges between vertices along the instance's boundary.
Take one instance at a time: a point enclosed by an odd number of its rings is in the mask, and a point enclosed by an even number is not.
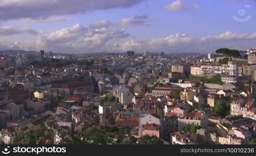
<svg viewBox="0 0 256 156"><path fill-rule="evenodd" d="M0 50L256 48L256 0L1 0Z"/></svg>

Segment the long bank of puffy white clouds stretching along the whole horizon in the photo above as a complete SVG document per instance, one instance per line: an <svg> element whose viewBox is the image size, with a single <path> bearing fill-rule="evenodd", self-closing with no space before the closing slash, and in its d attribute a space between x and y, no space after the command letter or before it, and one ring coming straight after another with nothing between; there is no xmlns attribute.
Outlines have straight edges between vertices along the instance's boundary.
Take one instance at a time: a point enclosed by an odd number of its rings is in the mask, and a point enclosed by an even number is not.
<svg viewBox="0 0 256 156"><path fill-rule="evenodd" d="M94 25L94 28L92 27ZM3 27L1 27L3 30ZM5 34L17 34L21 31L8 28ZM14 31L16 30L16 31ZM0 29L1 34L1 29ZM200 52L209 53L218 48L234 48L245 50L254 48L256 33L235 33L227 31L216 35L193 37L184 33L172 34L149 40L129 40L130 34L120 25L108 21L99 21L89 28L75 24L52 33L44 34L35 41L0 43L0 49L45 49L58 53L93 53L135 50L165 51L166 53ZM240 46L238 46L240 45Z"/></svg>

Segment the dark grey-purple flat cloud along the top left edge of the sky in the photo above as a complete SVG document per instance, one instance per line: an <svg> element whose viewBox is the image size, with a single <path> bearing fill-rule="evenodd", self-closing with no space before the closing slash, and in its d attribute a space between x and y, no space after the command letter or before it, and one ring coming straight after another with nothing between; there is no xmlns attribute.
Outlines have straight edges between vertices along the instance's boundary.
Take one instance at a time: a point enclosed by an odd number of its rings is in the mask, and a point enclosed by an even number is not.
<svg viewBox="0 0 256 156"><path fill-rule="evenodd" d="M93 10L127 8L147 0L1 0L0 21L47 18ZM7 13L8 12L8 13Z"/></svg>

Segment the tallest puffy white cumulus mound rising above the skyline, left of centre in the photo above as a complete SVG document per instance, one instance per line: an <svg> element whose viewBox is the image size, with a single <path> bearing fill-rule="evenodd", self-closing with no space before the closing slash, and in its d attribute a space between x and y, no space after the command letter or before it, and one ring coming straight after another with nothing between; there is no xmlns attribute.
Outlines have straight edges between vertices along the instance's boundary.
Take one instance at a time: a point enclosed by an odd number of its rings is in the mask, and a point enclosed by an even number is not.
<svg viewBox="0 0 256 156"><path fill-rule="evenodd" d="M105 22L96 22L94 27L102 26ZM104 24L103 24L104 25ZM124 29L119 29L116 25L108 28L86 28L81 24L61 29L50 34L46 34L36 41L37 48L49 49L52 51L73 51L86 53L104 51L108 49L106 45L110 42L117 42L121 38L130 36Z"/></svg>

